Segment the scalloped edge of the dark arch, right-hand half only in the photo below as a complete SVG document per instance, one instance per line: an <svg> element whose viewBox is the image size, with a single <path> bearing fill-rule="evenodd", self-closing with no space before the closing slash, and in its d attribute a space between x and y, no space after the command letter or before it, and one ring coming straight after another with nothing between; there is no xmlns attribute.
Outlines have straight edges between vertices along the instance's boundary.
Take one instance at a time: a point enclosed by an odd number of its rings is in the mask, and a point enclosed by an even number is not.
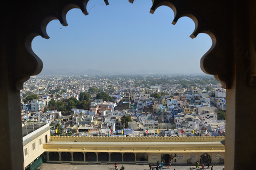
<svg viewBox="0 0 256 170"><path fill-rule="evenodd" d="M162 5L168 6L173 10L173 25L175 25L178 22L178 20L183 16L187 16L188 18L194 21L195 30L190 35L190 38L196 38L199 33L206 33L210 36L210 38L212 39L212 46L201 58L201 70L206 74L214 75L214 78L221 82L222 88L229 89L231 87L231 75L224 75L222 72L228 72L230 67L226 67L225 69L225 67L223 67L222 65L214 64L216 63L214 57L216 55L217 50L219 49L219 42L221 41L221 39L219 39L217 31L215 31L214 28L207 27L207 24L202 21L201 15L199 15L195 12L195 10L193 10L193 6L185 8L181 4L177 3L177 1L155 1L150 9L150 13L154 14L155 10ZM227 56L223 56L223 58L226 57ZM215 65L215 68L212 67L213 64Z"/></svg>

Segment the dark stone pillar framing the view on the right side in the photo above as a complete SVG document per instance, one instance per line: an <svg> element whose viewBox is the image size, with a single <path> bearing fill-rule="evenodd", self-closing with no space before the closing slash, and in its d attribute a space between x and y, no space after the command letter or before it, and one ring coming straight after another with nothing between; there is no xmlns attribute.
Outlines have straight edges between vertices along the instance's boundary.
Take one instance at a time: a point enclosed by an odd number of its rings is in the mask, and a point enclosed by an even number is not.
<svg viewBox="0 0 256 170"><path fill-rule="evenodd" d="M232 170L252 168L256 152L256 2L235 2L234 70L231 89L226 91L225 139L225 168Z"/></svg>

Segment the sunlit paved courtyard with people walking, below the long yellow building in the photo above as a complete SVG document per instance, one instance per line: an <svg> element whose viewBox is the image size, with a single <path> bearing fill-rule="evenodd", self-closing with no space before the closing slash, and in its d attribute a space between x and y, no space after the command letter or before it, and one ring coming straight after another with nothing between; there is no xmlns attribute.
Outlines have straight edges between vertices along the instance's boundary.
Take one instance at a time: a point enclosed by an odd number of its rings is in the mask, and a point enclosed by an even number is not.
<svg viewBox="0 0 256 170"><path fill-rule="evenodd" d="M129 170L129 169L133 169L133 170L148 170L149 167L148 165L134 165L134 164L117 164L117 167L120 169L122 167L122 165L124 165L125 170ZM196 166L171 166L170 170L173 170L175 168L175 170L190 170L190 167L193 168L193 170L199 170L201 168L195 168ZM206 166L207 167L207 166ZM214 170L222 170L224 168L224 166L214 166L213 165L213 169ZM42 166L43 170L55 170L55 169L61 169L61 170L84 170L84 169L91 169L91 170L103 170L103 169L107 169L107 170L114 170L114 165L111 164L107 164L107 165L74 165L74 164L49 164L49 163L44 163ZM155 169L155 168L154 168ZM167 167L164 166L162 169L167 170ZM205 168L207 169L207 168Z"/></svg>

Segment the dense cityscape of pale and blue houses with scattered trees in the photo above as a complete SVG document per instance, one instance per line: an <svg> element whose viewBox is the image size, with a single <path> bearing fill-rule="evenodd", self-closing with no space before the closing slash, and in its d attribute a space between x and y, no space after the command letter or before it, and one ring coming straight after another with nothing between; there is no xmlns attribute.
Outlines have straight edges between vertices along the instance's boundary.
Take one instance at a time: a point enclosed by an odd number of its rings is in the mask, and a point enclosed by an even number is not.
<svg viewBox="0 0 256 170"><path fill-rule="evenodd" d="M209 75L45 75L24 83L21 114L52 135L225 135L225 98Z"/></svg>

